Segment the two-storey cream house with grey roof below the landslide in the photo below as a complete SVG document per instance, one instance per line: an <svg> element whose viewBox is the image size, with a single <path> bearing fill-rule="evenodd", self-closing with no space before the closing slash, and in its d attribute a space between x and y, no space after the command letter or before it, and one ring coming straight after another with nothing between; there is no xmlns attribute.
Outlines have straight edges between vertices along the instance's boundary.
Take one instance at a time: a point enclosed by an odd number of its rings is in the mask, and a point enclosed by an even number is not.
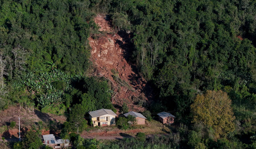
<svg viewBox="0 0 256 149"><path fill-rule="evenodd" d="M116 116L116 113L109 109L99 109L89 112L93 127L115 125Z"/></svg>

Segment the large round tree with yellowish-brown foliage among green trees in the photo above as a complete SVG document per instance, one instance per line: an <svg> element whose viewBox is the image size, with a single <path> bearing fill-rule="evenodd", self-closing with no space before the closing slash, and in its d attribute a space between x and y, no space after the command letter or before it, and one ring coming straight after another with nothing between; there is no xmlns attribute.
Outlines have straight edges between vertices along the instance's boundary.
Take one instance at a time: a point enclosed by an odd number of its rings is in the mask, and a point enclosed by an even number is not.
<svg viewBox="0 0 256 149"><path fill-rule="evenodd" d="M234 113L231 100L226 92L208 90L205 94L197 95L191 104L192 122L202 122L215 130L215 137L225 136L234 130Z"/></svg>

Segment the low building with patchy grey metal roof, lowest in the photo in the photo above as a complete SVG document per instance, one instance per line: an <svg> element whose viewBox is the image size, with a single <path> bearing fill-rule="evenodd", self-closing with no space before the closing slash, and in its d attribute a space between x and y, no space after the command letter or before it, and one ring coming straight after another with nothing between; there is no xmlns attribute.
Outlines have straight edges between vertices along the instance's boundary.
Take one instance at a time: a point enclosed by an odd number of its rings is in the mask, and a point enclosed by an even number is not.
<svg viewBox="0 0 256 149"><path fill-rule="evenodd" d="M53 134L43 135L43 139L43 144L52 148L68 148L69 146L68 139L55 139Z"/></svg>

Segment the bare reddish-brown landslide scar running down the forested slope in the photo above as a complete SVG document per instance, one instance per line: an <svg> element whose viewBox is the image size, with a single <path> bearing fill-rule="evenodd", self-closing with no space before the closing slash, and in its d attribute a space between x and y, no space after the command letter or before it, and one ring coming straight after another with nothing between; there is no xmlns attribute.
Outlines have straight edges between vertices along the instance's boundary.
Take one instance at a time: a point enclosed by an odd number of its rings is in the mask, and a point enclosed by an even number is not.
<svg viewBox="0 0 256 149"><path fill-rule="evenodd" d="M145 95L145 79L135 73L136 71L131 66L133 64L129 62L132 52L130 35L126 32L113 30L106 17L97 15L94 21L101 27L100 31L107 32L106 35L98 39L89 38L89 45L92 48L91 61L97 69L94 74L111 81L112 90L114 90L112 103L115 107L121 107L126 102L130 110L144 111L145 109L142 106L135 105L133 101L133 97L144 101L148 101L149 97ZM113 71L117 72L119 77L127 82L130 87L117 82L113 78ZM147 89L147 91L149 90Z"/></svg>

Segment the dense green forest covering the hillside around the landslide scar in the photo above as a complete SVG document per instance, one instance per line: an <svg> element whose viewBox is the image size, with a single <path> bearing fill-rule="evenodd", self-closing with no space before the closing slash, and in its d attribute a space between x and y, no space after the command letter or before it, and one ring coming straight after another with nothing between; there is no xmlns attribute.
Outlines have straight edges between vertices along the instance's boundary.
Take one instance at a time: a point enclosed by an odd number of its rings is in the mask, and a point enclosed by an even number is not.
<svg viewBox="0 0 256 149"><path fill-rule="evenodd" d="M130 33L129 61L155 90L146 108L176 111L179 128L154 141L105 145L70 135L77 148L256 148L253 0L1 0L0 108L20 104L67 116L69 107L116 111L107 80L87 76L88 38L100 34L97 13L109 14L116 31ZM203 121L197 109L208 97L225 97L227 121L220 121L218 109L218 124ZM73 131L72 118L63 136Z"/></svg>

